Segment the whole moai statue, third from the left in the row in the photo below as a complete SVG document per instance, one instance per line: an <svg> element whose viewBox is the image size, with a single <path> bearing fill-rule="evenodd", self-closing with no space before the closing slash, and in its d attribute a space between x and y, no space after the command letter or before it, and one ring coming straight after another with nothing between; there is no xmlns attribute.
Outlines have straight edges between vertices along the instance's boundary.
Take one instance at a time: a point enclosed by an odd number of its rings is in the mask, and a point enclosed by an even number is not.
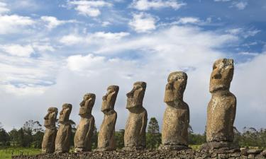
<svg viewBox="0 0 266 159"><path fill-rule="evenodd" d="M95 102L95 94L87 93L79 104L79 116L81 117L74 135L74 151L92 151L92 135L94 131L94 116L92 107Z"/></svg>

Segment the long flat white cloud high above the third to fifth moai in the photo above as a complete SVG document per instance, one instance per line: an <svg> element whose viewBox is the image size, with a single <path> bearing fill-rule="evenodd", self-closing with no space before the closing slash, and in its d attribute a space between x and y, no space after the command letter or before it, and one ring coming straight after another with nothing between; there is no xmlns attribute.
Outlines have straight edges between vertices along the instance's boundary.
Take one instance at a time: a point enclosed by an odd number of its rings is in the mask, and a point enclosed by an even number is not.
<svg viewBox="0 0 266 159"><path fill-rule="evenodd" d="M96 32L88 35L79 35L77 33L72 33L70 35L65 35L60 38L60 42L64 45L77 45L77 44L103 44L104 41L116 41L120 40L123 37L130 35L129 33L120 32L120 33L105 33L105 32ZM103 41L104 40L104 41Z"/></svg>

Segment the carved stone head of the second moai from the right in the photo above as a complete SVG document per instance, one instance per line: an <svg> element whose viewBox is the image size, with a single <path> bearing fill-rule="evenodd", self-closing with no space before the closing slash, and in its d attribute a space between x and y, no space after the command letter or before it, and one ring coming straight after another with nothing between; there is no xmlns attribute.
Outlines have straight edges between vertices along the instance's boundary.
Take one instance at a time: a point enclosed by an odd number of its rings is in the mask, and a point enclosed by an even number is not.
<svg viewBox="0 0 266 159"><path fill-rule="evenodd" d="M182 71L172 72L167 81L164 101L171 106L177 100L183 100L184 90L187 86L187 73Z"/></svg>

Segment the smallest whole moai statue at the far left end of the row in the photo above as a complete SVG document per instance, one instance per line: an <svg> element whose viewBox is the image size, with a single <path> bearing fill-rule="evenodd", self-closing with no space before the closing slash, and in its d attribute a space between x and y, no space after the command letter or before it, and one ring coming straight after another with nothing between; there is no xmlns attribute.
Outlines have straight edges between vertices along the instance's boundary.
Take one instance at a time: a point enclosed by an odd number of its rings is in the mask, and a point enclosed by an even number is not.
<svg viewBox="0 0 266 159"><path fill-rule="evenodd" d="M55 126L57 117L57 108L49 107L48 114L45 115L45 134L43 136L42 153L54 153L55 152L55 137L57 129Z"/></svg>

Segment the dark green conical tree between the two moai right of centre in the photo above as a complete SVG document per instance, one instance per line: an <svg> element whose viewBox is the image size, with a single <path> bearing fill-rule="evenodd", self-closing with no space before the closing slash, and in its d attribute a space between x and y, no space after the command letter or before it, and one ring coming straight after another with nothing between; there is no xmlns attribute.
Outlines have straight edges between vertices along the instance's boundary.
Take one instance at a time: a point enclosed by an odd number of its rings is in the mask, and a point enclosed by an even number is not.
<svg viewBox="0 0 266 159"><path fill-rule="evenodd" d="M150 118L148 125L148 133L146 135L147 148L154 149L160 146L161 134L159 131L159 124L155 117Z"/></svg>

